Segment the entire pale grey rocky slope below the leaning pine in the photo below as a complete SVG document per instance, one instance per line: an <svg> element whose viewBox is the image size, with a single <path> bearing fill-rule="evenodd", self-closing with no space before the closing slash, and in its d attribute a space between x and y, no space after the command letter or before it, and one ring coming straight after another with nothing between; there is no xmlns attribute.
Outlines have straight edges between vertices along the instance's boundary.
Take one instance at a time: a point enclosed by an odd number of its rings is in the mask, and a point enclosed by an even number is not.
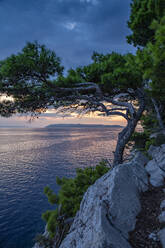
<svg viewBox="0 0 165 248"><path fill-rule="evenodd" d="M152 146L149 156L150 160L142 153L136 153L130 162L116 166L88 188L60 248L165 248L165 145ZM160 203L152 199L151 188L157 189ZM149 216L151 233L146 232L152 242L139 246L136 244L136 224L137 216L143 216L139 215L144 208L142 194L149 196L150 206L153 205L153 216ZM159 209L154 210L154 207ZM160 225L154 226L156 221ZM140 228L144 229L143 220L140 223ZM134 232L131 242L130 232Z"/></svg>

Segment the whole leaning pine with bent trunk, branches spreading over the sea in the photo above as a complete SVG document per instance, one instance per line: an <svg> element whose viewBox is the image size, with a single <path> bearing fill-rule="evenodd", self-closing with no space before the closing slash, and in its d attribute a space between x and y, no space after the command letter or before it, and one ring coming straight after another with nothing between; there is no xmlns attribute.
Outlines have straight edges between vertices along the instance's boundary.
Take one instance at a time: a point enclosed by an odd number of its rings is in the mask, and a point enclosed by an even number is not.
<svg viewBox="0 0 165 248"><path fill-rule="evenodd" d="M125 145L145 107L144 82L136 56L95 53L93 63L70 70L67 77L61 76L62 69L53 52L38 43L28 43L21 53L1 62L3 93L14 97L17 112L30 112L33 116L52 105L63 106L63 110L122 116L128 125L120 133L114 164L122 162ZM50 80L53 75L56 78ZM135 108L135 101L139 108Z"/></svg>

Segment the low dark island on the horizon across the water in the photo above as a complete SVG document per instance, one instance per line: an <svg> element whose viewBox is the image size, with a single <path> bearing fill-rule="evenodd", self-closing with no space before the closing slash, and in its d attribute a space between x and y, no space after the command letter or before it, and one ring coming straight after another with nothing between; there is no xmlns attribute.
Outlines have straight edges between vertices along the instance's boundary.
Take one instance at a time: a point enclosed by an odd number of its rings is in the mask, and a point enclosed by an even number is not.
<svg viewBox="0 0 165 248"><path fill-rule="evenodd" d="M120 125L95 125L95 124L51 124L45 128L122 128Z"/></svg>

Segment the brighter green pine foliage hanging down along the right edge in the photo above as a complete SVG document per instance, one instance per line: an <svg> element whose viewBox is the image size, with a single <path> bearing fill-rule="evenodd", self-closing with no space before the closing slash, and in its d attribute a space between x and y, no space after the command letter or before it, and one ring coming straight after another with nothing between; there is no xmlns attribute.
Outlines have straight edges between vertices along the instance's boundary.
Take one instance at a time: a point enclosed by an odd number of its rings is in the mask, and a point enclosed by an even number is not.
<svg viewBox="0 0 165 248"><path fill-rule="evenodd" d="M143 49L138 49L136 55L148 98L145 126L150 130L159 126L152 99L155 100L162 122L165 124L165 16L159 22L153 21L151 28L155 32L155 42L149 42Z"/></svg>

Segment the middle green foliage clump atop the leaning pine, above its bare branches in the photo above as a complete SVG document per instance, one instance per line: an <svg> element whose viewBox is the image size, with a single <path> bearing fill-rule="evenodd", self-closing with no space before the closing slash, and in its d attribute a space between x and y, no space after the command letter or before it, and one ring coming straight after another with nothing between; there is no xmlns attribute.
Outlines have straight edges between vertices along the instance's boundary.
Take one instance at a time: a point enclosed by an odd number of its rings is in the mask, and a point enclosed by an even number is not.
<svg viewBox="0 0 165 248"><path fill-rule="evenodd" d="M99 84L103 92L111 94L114 88L124 91L142 86L142 75L134 55L94 52L92 60L91 64L77 68L76 72L82 80Z"/></svg>

